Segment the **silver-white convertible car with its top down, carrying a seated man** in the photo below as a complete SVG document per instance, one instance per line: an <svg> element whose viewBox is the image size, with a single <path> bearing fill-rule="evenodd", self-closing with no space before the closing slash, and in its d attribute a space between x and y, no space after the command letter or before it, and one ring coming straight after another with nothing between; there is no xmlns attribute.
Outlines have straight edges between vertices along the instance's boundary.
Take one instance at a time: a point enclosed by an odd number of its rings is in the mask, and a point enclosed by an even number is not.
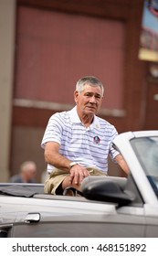
<svg viewBox="0 0 158 256"><path fill-rule="evenodd" d="M113 146L130 175L89 176L82 197L0 184L0 237L158 237L158 131L121 133Z"/></svg>

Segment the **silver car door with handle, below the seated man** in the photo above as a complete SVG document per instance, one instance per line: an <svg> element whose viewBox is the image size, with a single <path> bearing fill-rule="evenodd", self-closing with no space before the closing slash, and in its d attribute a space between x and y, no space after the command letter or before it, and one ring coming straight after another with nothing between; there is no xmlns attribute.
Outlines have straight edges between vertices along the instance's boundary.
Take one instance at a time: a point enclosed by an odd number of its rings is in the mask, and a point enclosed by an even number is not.
<svg viewBox="0 0 158 256"><path fill-rule="evenodd" d="M86 200L40 200L34 211L19 211L9 237L143 237L143 208ZM47 201L47 202L46 202ZM36 208L36 211L35 211Z"/></svg>

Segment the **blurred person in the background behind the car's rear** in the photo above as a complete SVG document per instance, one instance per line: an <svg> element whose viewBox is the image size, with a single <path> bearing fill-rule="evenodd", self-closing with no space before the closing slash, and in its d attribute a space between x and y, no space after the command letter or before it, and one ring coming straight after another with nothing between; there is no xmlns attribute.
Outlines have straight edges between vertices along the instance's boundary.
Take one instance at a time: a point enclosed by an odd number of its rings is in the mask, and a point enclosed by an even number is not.
<svg viewBox="0 0 158 256"><path fill-rule="evenodd" d="M26 161L20 165L19 174L12 176L11 183L36 183L37 165L33 161Z"/></svg>

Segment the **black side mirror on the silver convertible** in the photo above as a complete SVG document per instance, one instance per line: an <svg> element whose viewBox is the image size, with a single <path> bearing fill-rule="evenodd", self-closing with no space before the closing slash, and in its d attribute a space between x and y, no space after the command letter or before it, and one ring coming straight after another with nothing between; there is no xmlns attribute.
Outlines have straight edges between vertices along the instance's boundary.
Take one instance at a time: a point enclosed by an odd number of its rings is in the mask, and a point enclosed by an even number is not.
<svg viewBox="0 0 158 256"><path fill-rule="evenodd" d="M128 205L134 200L134 195L111 180L91 181L81 189L83 196L90 200L116 203L119 206Z"/></svg>

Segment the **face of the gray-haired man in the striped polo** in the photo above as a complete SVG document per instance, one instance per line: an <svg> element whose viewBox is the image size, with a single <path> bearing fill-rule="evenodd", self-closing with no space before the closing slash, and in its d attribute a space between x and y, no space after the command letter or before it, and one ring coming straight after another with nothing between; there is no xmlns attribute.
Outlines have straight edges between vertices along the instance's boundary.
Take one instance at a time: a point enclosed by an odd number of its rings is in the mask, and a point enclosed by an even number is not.
<svg viewBox="0 0 158 256"><path fill-rule="evenodd" d="M75 91L75 102L81 115L94 115L100 110L102 101L102 91L100 86L90 86L86 84L84 90L79 93Z"/></svg>

